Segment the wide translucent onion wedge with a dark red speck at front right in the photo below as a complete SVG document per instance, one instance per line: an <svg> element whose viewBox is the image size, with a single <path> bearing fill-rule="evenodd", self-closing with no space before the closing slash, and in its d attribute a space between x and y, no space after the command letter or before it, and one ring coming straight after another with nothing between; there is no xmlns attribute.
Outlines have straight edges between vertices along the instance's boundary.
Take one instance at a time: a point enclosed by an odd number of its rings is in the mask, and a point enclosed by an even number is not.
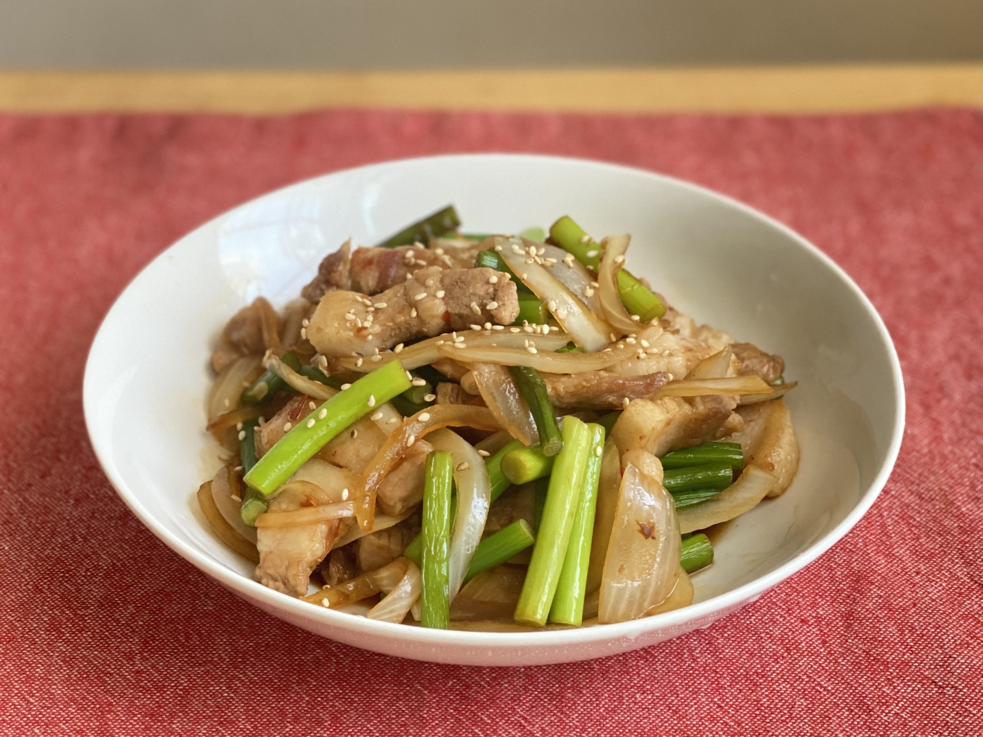
<svg viewBox="0 0 983 737"><path fill-rule="evenodd" d="M664 601L679 577L681 549L672 497L661 483L628 466L607 544L599 621L637 619Z"/></svg>

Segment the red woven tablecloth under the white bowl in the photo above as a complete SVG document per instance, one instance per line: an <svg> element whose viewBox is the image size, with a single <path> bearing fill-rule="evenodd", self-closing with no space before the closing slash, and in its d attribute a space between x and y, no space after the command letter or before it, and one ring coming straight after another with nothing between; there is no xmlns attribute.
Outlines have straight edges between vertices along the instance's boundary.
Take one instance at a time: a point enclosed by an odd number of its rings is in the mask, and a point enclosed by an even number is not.
<svg viewBox="0 0 983 737"><path fill-rule="evenodd" d="M699 182L857 280L895 337L908 425L856 529L707 630L524 669L318 639L144 529L99 471L81 401L88 345L127 281L271 188L484 150ZM0 734L979 734L981 336L980 113L0 117Z"/></svg>

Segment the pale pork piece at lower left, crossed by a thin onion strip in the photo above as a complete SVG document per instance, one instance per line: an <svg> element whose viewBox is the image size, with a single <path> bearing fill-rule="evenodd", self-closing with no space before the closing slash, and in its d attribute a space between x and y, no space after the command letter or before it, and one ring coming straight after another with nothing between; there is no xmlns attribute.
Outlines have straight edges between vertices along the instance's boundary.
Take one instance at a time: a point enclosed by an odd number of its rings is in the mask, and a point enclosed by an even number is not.
<svg viewBox="0 0 983 737"><path fill-rule="evenodd" d="M313 483L303 490L288 486L269 502L269 511L292 512L330 501L330 496ZM260 565L256 567L256 580L283 594L307 594L311 574L331 549L340 523L329 520L293 527L258 527Z"/></svg>

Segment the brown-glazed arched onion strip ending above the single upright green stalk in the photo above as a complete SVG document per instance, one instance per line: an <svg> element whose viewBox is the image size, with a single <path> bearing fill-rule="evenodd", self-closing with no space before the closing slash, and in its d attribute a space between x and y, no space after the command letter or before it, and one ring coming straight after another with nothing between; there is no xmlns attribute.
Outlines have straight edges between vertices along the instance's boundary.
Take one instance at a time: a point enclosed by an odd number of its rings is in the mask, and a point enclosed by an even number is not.
<svg viewBox="0 0 983 737"><path fill-rule="evenodd" d="M376 490L385 475L403 460L409 448L418 439L448 425L487 430L501 429L501 425L498 425L498 421L487 407L463 404L434 405L413 417L406 418L403 424L386 438L382 447L378 449L376 457L363 473L358 488L353 489L355 516L363 530L373 529L373 519L376 516Z"/></svg>

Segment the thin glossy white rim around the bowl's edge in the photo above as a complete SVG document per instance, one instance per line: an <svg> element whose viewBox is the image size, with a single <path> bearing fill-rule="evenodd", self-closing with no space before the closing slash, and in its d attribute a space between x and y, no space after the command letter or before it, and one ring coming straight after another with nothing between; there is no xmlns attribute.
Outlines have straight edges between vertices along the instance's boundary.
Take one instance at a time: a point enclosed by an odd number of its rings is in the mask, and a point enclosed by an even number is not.
<svg viewBox="0 0 983 737"><path fill-rule="evenodd" d="M834 529L830 530L821 538L813 540L808 547L794 555L785 563L782 563L781 566L775 570L721 595L712 596L704 601L691 604L681 609L675 609L663 614L643 617L641 619L627 622L542 632L475 632L468 630L431 630L423 627L379 622L368 619L367 617L353 616L345 612L312 606L310 603L302 601L299 598L283 595L262 586L260 583L247 578L231 568L226 567L218 560L213 559L207 553L199 550L195 545L172 535L165 527L158 525L156 519L149 512L149 510L147 510L136 495L130 491L127 483L124 482L122 477L116 473L114 464L107 449L100 447L100 445L95 441L94 437L96 415L94 403L98 393L99 384L93 375L92 357L97 352L103 350L103 343L108 340L106 337L106 326L116 318L117 312L122 310L121 303L124 301L124 298L138 291L141 286L141 281L143 278L145 278L145 274L159 261L167 258L170 252L178 245L197 235L202 230L214 226L219 220L227 217L230 213L243 207L250 206L260 199L280 196L283 193L293 189L303 189L305 187L309 187L314 182L335 176L343 177L353 173L371 175L374 170L381 171L393 166L439 164L446 160L466 161L467 159L498 159L505 162L521 161L524 163L551 162L575 164L589 168L595 167L598 169L606 169L617 172L621 175L659 180L665 184L679 187L684 190L689 190L703 197L716 199L725 205L741 211L748 217L757 219L760 222L777 229L781 232L781 234L785 235L788 239L796 243L800 248L817 257L823 264L825 264L827 268L833 271L838 276L839 280L852 291L854 296L858 299L859 304L862 306L864 311L867 313L867 316L872 320L874 326L876 327L882 343L887 348L892 370L892 380L894 382L895 389L895 423L894 427L892 428L891 440L888 445L884 462L882 463L881 468L879 469L874 480L860 495L860 498L857 500L855 506L850 510L846 517L840 521L840 523ZM263 602L263 604L265 604L265 606L261 608L268 607L267 611L270 609L285 611L286 613L293 615L292 619L294 621L319 618L324 622L324 624L327 624L333 628L349 630L363 636L379 636L387 639L396 638L403 640L404 642L412 642L421 646L445 645L465 647L476 650L503 647L508 649L528 649L537 647L587 645L617 639L633 640L639 635L650 631L671 629L676 625L683 625L693 621L713 621L717 617L725 614L729 609L736 608L743 602L753 601L759 595L762 595L769 589L774 588L782 581L797 573L829 550L838 542L839 539L842 539L846 533L848 533L857 524L864 514L866 514L867 510L870 509L871 505L873 505L881 490L884 488L892 470L894 469L897 455L900 450L905 418L904 382L900 362L897 358L894 341L892 340L891 334L888 331L884 320L881 318L881 315L877 312L874 305L863 293L860 287L857 286L857 284L849 277L849 275L846 274L846 272L836 263L836 261L834 261L829 255L824 254L819 248L814 246L806 238L799 235L788 226L784 225L770 215L767 215L764 212L752 207L751 205L741 202L738 199L731 198L715 190L688 182L686 180L646 169L589 158L533 153L496 152L413 156L399 159L389 159L362 166L349 167L346 169L339 169L337 171L320 174L315 177L309 177L299 182L263 193L258 197L250 198L219 213L215 217L210 218L206 222L196 227L194 230L183 235L158 255L154 256L147 264L145 264L140 272L138 272L138 274L130 280L127 286L113 302L112 307L99 324L99 328L96 331L91 347L89 348L85 376L83 380L83 406L87 433L93 452L95 453L96 459L98 460L103 473L113 485L113 488L116 490L119 496L123 499L124 503L138 517L138 519L144 523L145 527L151 533L153 533L154 536L163 541L168 547L177 552L181 557L190 562L196 568L214 578L220 584L226 586L237 594L244 595L246 598L251 600L251 603L255 603L255 601L259 599ZM574 657L570 659L578 658Z"/></svg>

